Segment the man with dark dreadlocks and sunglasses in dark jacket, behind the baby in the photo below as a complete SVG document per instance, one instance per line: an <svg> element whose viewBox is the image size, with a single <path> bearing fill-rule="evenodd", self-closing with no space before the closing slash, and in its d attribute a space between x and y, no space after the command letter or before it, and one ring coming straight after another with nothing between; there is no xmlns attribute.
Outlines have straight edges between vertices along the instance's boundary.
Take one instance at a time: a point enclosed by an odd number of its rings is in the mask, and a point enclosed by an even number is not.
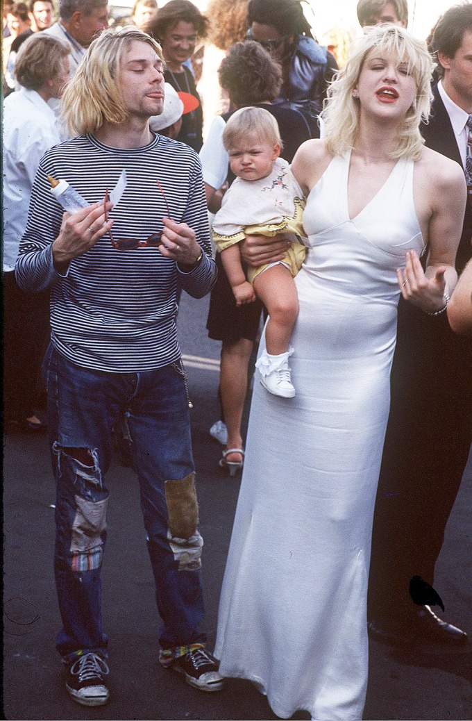
<svg viewBox="0 0 472 721"><path fill-rule="evenodd" d="M313 39L300 1L251 0L247 24L246 37L282 66L282 89L274 104L302 112L313 138L319 137L318 115L337 62Z"/></svg>

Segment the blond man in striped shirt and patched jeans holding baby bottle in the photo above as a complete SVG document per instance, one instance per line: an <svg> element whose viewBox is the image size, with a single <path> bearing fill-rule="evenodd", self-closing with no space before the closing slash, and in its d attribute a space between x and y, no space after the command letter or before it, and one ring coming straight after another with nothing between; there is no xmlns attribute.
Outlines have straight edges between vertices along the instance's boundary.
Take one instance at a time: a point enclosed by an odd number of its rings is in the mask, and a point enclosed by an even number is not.
<svg viewBox="0 0 472 721"><path fill-rule="evenodd" d="M176 337L177 289L200 298L216 271L198 157L149 129L163 104L161 48L151 37L127 27L94 40L64 97L75 137L40 162L16 267L23 290L51 290L43 370L57 482L57 648L68 693L85 706L109 697L104 474L123 415L162 619L159 662L202 691L222 686L200 629L203 541ZM55 181L84 207L63 213Z"/></svg>

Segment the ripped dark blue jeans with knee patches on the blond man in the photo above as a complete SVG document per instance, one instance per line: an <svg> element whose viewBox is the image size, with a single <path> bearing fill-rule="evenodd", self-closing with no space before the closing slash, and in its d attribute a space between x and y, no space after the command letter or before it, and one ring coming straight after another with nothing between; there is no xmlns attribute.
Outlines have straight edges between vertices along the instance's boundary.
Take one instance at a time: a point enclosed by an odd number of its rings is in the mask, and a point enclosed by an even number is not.
<svg viewBox="0 0 472 721"><path fill-rule="evenodd" d="M143 373L75 366L52 345L43 370L57 482L55 583L63 658L107 655L101 567L107 536L112 427L125 415L139 479L165 649L205 642L201 551L187 392L180 363ZM123 578L123 583L126 579Z"/></svg>

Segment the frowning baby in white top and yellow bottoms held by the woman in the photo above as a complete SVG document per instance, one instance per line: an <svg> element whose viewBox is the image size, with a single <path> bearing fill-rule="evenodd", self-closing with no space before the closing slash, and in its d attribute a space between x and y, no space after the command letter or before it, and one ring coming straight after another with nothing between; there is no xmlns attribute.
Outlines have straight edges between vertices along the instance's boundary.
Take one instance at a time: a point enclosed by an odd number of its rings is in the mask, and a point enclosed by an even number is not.
<svg viewBox="0 0 472 721"><path fill-rule="evenodd" d="M236 305L257 296L267 308L266 348L256 363L261 384L270 393L293 398L288 358L290 335L298 315L293 276L305 260L306 248L294 242L280 262L249 268L241 265L238 243L246 235L275 236L291 232L304 236L303 193L280 156L277 120L260 107L244 107L231 115L223 133L236 180L223 196L213 222L213 239L233 289Z"/></svg>

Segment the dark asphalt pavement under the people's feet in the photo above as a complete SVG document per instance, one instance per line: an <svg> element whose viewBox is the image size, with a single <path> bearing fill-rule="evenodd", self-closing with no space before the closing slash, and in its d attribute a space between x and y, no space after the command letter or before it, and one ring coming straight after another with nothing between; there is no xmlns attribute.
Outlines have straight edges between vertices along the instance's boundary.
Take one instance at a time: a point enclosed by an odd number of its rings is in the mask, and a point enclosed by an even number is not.
<svg viewBox="0 0 472 721"><path fill-rule="evenodd" d="M221 449L208 435L218 416L219 344L205 332L208 300L182 298L179 324L194 402L209 645L215 640L239 479L218 469ZM202 360L203 359L203 360ZM264 697L246 681L203 694L157 662L159 619L143 535L138 487L130 469L112 465L104 615L110 636L111 699L101 709L75 704L63 691L54 648L59 614L53 586L53 481L44 438L4 439L4 718L32 720L270 720ZM437 588L444 618L472 634L472 459L447 527ZM472 643L406 653L370 644L365 720L472 719ZM300 713L297 719L307 719Z"/></svg>

